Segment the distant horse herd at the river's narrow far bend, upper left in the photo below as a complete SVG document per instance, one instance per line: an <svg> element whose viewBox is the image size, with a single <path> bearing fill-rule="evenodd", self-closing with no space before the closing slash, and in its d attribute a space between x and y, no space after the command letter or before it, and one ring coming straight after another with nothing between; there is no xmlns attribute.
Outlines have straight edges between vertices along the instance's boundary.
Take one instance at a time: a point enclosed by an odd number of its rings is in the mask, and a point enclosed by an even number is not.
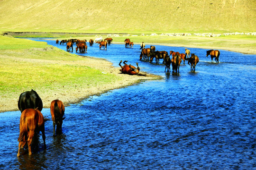
<svg viewBox="0 0 256 170"><path fill-rule="evenodd" d="M89 40L90 46L93 45L93 43L99 43L100 50L107 50L107 46L110 45L110 43L113 41L112 38L105 38L103 41L102 37L96 38L94 41L92 39ZM69 39L69 40L61 40L60 45L66 43L67 51L73 51L73 44L76 43L75 52L79 51L80 53L87 52L87 40L79 40L79 39ZM56 40L56 44L59 43L59 40Z"/></svg>

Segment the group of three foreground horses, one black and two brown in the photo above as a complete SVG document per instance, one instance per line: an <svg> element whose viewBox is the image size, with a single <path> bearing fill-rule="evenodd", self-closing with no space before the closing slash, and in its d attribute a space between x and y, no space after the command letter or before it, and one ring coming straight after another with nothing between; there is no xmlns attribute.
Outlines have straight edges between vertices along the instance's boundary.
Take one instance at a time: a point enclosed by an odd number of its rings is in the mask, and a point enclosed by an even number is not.
<svg viewBox="0 0 256 170"><path fill-rule="evenodd" d="M33 89L21 93L18 99L18 109L21 112L19 121L19 136L18 136L18 154L20 156L20 148L25 144L28 145L28 154L31 155L31 142L33 136L39 131L42 132L44 147L46 149L46 135L45 135L45 119L41 110L43 109L43 102L36 91ZM53 120L54 136L62 133L62 123L64 116L64 104L60 100L53 100L50 105L50 112ZM56 133L55 133L56 125Z"/></svg>

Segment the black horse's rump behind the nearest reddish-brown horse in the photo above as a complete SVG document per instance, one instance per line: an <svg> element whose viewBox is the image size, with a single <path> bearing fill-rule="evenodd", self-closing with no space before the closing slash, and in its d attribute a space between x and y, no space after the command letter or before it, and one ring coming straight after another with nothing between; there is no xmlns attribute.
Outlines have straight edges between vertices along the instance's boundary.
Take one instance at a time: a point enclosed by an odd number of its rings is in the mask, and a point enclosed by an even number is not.
<svg viewBox="0 0 256 170"><path fill-rule="evenodd" d="M36 91L33 89L29 92L23 92L20 94L18 99L18 109L22 113L23 110L32 108L32 109L43 109L43 102Z"/></svg>

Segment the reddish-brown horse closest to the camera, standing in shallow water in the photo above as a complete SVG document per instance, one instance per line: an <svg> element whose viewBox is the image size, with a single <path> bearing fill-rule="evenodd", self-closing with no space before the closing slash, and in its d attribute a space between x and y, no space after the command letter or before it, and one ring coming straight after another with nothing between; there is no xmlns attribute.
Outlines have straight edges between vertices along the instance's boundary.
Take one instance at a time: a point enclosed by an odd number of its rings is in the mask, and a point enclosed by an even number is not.
<svg viewBox="0 0 256 170"><path fill-rule="evenodd" d="M32 155L31 142L34 134L38 131L42 132L44 146L46 149L45 122L43 114L38 109L25 109L20 116L17 156L20 155L20 148L23 148L26 143L28 145L28 154Z"/></svg>

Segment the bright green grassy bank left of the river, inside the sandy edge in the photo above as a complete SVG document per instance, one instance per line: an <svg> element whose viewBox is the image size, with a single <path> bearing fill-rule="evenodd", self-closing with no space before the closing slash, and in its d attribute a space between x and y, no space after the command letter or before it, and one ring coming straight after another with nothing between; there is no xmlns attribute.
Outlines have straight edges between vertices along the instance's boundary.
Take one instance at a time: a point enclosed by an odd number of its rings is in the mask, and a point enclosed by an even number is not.
<svg viewBox="0 0 256 170"><path fill-rule="evenodd" d="M31 89L91 87L117 80L111 74L86 66L82 57L26 39L0 36L0 97L18 98Z"/></svg>

